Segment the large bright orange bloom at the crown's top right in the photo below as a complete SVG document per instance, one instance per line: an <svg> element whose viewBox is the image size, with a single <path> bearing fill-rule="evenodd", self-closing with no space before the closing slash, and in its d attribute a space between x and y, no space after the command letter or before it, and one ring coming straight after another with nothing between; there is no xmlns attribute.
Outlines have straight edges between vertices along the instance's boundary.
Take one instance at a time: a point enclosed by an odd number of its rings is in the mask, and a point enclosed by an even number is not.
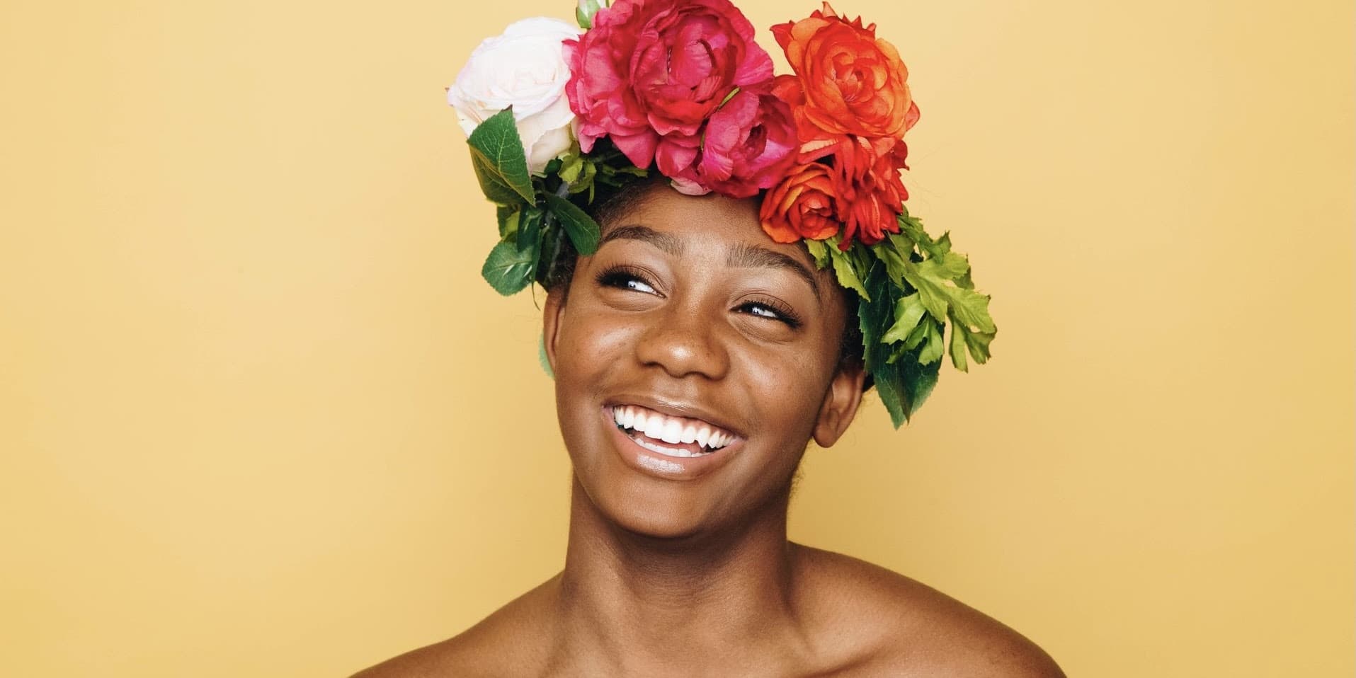
<svg viewBox="0 0 1356 678"><path fill-rule="evenodd" d="M909 69L894 45L876 38L876 24L848 22L824 3L822 12L772 33L803 88L803 103L795 106L801 141L812 132L804 122L826 136L900 137L918 121Z"/></svg>

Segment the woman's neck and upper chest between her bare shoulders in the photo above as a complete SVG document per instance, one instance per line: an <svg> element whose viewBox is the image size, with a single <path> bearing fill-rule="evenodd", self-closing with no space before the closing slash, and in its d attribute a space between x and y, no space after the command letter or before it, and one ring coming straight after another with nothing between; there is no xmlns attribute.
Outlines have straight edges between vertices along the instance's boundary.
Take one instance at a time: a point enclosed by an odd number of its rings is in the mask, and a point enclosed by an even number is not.
<svg viewBox="0 0 1356 678"><path fill-rule="evenodd" d="M788 499L758 509L739 530L656 538L610 522L576 480L557 660L594 675L698 675L765 654L791 659L804 643Z"/></svg>

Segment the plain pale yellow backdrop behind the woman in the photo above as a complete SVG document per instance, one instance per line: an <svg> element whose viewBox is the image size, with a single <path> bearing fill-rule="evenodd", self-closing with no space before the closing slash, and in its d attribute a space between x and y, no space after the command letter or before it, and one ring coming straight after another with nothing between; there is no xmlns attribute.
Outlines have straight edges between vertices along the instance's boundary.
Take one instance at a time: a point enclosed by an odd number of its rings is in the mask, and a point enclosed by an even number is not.
<svg viewBox="0 0 1356 678"><path fill-rule="evenodd" d="M838 8L999 334L812 449L792 538L1070 675L1352 675L1351 3ZM0 674L347 675L559 570L538 312L443 100L546 14L0 4Z"/></svg>

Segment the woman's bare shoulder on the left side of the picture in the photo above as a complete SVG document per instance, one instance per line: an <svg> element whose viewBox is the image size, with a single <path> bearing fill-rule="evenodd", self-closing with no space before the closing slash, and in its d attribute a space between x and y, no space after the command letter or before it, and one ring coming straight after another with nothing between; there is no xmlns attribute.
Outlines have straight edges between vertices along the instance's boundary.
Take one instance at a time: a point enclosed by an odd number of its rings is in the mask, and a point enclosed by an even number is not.
<svg viewBox="0 0 1356 678"><path fill-rule="evenodd" d="M559 575L557 575L559 576ZM503 607L480 620L475 626L439 643L411 650L400 656L358 671L353 678L488 678L525 671L545 662L545 645L525 643L523 639L544 639L536 628L544 618L544 594L556 578L514 598ZM513 658L513 667L504 658Z"/></svg>

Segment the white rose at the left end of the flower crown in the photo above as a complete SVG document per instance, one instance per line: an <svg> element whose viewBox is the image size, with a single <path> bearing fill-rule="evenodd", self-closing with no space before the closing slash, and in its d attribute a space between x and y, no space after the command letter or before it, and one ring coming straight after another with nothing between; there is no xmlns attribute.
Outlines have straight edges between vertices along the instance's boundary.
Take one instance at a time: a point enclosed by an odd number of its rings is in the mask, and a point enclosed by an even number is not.
<svg viewBox="0 0 1356 678"><path fill-rule="evenodd" d="M487 118L513 106L527 170L541 174L572 144L575 114L565 96L570 66L561 42L579 33L560 19L537 16L481 42L447 88L447 103L457 110L462 132L471 136Z"/></svg>

